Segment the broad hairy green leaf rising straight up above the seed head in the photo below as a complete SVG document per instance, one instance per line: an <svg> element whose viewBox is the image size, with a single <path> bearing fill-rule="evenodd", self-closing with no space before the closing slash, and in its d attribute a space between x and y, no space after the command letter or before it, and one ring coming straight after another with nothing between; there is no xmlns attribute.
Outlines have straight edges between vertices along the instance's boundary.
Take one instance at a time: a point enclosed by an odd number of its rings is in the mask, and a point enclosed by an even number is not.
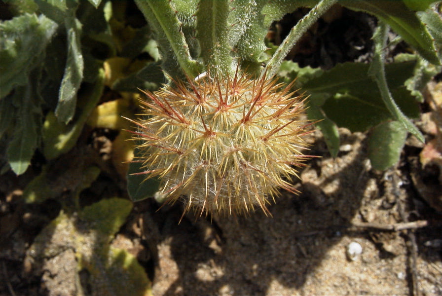
<svg viewBox="0 0 442 296"><path fill-rule="evenodd" d="M214 75L231 74L232 58L228 46L228 0L200 1L196 12L196 37L201 47L201 57Z"/></svg>

